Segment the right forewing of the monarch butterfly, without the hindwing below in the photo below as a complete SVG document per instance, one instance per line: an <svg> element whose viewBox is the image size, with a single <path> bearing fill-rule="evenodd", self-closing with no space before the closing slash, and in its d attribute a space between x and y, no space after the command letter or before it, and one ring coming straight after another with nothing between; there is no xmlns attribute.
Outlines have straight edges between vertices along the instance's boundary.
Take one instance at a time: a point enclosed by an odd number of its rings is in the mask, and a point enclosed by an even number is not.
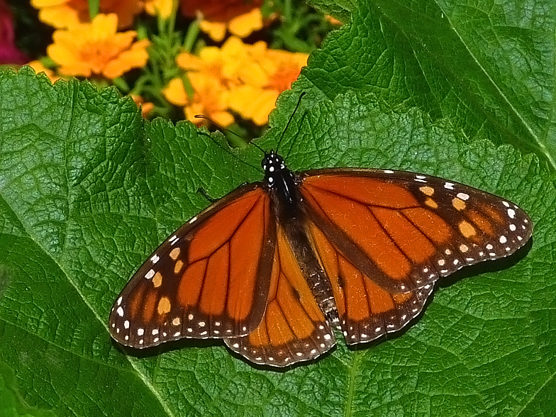
<svg viewBox="0 0 556 417"><path fill-rule="evenodd" d="M303 174L300 189L311 220L335 248L394 293L510 255L532 231L515 204L410 172L322 169Z"/></svg>

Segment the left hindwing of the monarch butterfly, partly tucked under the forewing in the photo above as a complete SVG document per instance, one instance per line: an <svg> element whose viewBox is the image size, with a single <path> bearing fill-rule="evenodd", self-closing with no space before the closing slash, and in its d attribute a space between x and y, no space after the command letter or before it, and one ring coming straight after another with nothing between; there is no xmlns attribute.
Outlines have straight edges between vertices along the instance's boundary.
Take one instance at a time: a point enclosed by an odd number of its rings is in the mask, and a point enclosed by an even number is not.
<svg viewBox="0 0 556 417"><path fill-rule="evenodd" d="M267 310L249 335L226 345L260 365L283 367L311 360L335 345L335 338L279 229Z"/></svg>

